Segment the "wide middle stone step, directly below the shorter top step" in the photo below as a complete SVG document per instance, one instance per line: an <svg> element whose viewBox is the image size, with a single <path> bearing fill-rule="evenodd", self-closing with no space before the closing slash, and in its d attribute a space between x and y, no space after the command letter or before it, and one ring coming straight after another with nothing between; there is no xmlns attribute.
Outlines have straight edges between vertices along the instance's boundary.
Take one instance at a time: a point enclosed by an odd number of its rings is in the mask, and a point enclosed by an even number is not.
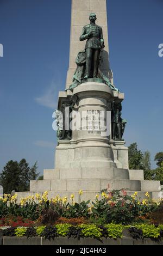
<svg viewBox="0 0 163 256"><path fill-rule="evenodd" d="M30 181L30 191L101 191L110 190L160 191L160 181L125 179L55 179Z"/></svg>

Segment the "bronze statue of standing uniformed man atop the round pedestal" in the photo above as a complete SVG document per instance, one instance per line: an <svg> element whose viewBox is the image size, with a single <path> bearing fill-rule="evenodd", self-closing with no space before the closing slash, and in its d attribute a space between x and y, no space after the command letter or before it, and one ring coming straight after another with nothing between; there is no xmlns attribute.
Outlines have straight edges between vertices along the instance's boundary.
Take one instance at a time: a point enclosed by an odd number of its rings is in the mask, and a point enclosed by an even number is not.
<svg viewBox="0 0 163 256"><path fill-rule="evenodd" d="M101 48L104 48L103 30L102 27L96 25L96 14L90 14L90 24L84 26L80 41L87 40L85 45L86 50L86 76L87 78L97 78L99 56Z"/></svg>

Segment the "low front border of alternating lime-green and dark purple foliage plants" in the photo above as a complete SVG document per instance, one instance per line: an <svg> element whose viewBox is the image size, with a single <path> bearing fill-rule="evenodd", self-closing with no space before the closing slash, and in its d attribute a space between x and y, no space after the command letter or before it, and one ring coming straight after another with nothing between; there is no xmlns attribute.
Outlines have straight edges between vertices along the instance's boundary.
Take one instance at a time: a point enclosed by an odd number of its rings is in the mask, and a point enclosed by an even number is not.
<svg viewBox="0 0 163 256"><path fill-rule="evenodd" d="M1 228L3 234L1 236L17 236L23 237L45 237L45 239L51 240L55 237L68 237L68 239L81 238L93 238L102 240L103 238L122 239L126 232L128 236L133 239L161 239L163 237L163 225L148 225L137 224L135 226L126 226L121 224L105 224L103 226L97 226L95 224L57 224L57 225L42 225L40 227L8 227Z"/></svg>

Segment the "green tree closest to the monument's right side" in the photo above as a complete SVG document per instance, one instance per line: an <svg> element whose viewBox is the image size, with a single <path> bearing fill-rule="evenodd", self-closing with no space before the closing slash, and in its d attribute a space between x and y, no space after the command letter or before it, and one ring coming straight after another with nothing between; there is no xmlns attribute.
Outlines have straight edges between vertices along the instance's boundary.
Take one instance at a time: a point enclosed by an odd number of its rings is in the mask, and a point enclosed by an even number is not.
<svg viewBox="0 0 163 256"><path fill-rule="evenodd" d="M143 169L142 158L143 154L141 150L137 149L137 143L133 143L128 148L129 153L129 169L140 170Z"/></svg>

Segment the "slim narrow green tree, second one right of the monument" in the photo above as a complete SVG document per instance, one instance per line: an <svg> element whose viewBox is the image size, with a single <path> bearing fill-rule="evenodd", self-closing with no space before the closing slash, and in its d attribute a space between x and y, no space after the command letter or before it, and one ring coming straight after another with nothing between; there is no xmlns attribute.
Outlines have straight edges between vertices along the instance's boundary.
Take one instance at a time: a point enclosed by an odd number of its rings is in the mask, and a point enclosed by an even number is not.
<svg viewBox="0 0 163 256"><path fill-rule="evenodd" d="M142 165L145 174L145 180L151 180L151 153L149 151L145 151L143 153Z"/></svg>

